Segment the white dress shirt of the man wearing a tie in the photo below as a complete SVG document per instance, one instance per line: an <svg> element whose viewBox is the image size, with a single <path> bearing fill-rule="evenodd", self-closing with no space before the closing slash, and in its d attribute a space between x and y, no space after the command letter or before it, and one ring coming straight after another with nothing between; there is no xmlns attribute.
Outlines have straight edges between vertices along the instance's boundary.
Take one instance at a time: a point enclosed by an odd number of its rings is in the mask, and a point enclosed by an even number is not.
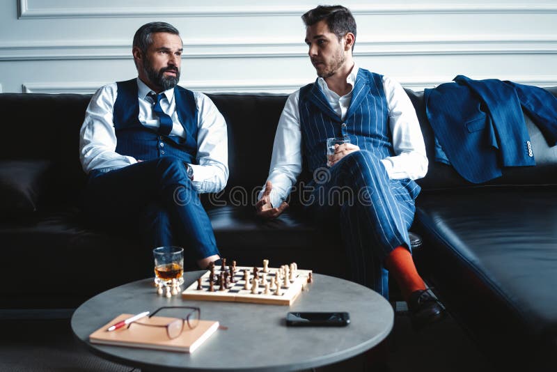
<svg viewBox="0 0 557 372"><path fill-rule="evenodd" d="M152 110L153 101L148 96L151 89L137 78L139 122L157 129L159 118ZM86 173L93 169L109 171L135 164L137 159L116 153L116 132L113 123L113 107L118 95L116 83L100 88L87 107L85 121L81 125L79 160ZM162 110L173 121L171 136L185 137L184 127L178 120L174 89L164 91ZM193 184L198 192L219 192L228 180L228 137L226 121L203 93L194 92L198 109L197 164L189 164L194 170ZM144 160L144 159L140 159Z"/></svg>

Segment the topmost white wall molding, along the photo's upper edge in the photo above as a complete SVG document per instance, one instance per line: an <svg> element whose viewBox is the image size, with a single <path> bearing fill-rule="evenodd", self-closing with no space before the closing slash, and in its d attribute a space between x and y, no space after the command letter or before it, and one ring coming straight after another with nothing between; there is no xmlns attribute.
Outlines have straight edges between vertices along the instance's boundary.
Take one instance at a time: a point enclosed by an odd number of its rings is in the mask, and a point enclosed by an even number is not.
<svg viewBox="0 0 557 372"><path fill-rule="evenodd" d="M130 3L130 2L129 2ZM56 1L42 8L29 4L28 0L18 1L18 17L29 18L91 18L91 17L238 17L238 16L297 16L311 6L304 5L253 5L234 6L153 6L136 3L134 6L103 7L91 6L91 2L75 2L72 7L58 6ZM130 3L132 4L132 3ZM462 13L557 13L557 4L517 4L517 3L379 3L350 5L354 15L382 14L462 14Z"/></svg>

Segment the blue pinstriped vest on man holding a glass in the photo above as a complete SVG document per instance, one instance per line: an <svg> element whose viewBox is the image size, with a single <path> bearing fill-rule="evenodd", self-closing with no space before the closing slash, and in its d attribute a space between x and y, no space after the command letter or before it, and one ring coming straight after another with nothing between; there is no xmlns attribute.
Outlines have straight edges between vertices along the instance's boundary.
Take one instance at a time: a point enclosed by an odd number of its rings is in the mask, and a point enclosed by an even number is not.
<svg viewBox="0 0 557 372"><path fill-rule="evenodd" d="M395 155L382 75L358 70L344 121L327 102L317 80L300 89L299 114L304 167L311 173L327 166L327 138L331 137L350 137L352 144L379 159ZM399 181L413 199L418 195L420 187L414 181Z"/></svg>

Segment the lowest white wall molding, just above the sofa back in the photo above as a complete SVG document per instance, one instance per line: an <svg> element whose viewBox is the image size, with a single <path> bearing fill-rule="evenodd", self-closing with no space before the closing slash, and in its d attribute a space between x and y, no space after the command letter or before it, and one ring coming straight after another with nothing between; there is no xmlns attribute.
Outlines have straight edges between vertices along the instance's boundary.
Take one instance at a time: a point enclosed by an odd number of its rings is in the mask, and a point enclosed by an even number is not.
<svg viewBox="0 0 557 372"><path fill-rule="evenodd" d="M475 79L492 79L493 76L474 76ZM396 77L405 87L414 91L424 88L434 88L439 84L450 82L453 77ZM534 86L557 86L557 75L515 75L505 77L512 82ZM280 80L226 80L219 82L191 81L180 82L181 86L204 93L292 93L301 86L311 82L311 79L280 79ZM23 93L94 93L101 86L109 82L29 82L22 84ZM1 86L0 86L1 89Z"/></svg>

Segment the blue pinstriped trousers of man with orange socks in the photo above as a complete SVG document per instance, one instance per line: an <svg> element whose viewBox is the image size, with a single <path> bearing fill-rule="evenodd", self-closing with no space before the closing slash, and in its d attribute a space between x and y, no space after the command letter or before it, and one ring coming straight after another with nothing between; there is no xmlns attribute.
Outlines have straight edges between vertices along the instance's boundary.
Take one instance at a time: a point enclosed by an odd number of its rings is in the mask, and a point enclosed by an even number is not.
<svg viewBox="0 0 557 372"><path fill-rule="evenodd" d="M306 211L315 222L340 229L350 279L389 298L385 258L400 245L410 249L415 207L407 189L389 179L379 158L367 150L317 169L309 186Z"/></svg>

